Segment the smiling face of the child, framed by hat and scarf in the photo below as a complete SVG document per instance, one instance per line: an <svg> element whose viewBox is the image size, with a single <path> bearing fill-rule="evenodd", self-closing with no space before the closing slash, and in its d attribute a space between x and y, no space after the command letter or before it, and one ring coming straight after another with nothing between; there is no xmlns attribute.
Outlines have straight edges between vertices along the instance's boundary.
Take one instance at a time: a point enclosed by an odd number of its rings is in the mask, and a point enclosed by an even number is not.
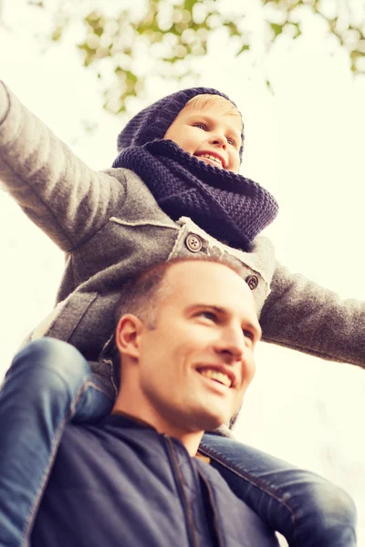
<svg viewBox="0 0 365 547"><path fill-rule="evenodd" d="M224 113L218 102L209 108L188 105L173 120L164 139L173 140L199 160L236 173L240 166L241 129L239 116Z"/></svg>

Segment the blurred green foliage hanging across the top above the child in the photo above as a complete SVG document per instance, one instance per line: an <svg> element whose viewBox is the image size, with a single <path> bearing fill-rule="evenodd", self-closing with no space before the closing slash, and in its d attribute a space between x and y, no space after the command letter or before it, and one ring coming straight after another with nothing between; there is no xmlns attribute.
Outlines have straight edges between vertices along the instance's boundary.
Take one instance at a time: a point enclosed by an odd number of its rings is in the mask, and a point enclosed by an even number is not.
<svg viewBox="0 0 365 547"><path fill-rule="evenodd" d="M128 1L138 4L138 0ZM82 10L69 10L70 0L66 2L53 0L53 4L56 5L54 12L56 16L53 19L52 31L47 33L47 37L52 42L59 42L68 28L81 26L83 36L79 40L80 43L75 44L79 50L80 62L86 67L96 66L95 72L98 72L102 79L102 75L105 74L105 70L101 69L104 57L109 57L108 62L112 64L112 70L114 70L114 82L111 82L111 87L113 90L116 89L116 95L114 93L112 99L106 95L105 108L112 109L114 112L123 112L126 109L125 105L128 105L128 98L143 92L144 78L151 77L151 67L153 67L153 75L166 77L168 74L168 77L175 80L183 77L193 78L193 64L189 64L189 60L206 53L207 42L216 28L225 27L228 40L234 40L235 51L238 50L236 56L250 52L254 38L251 32L244 33L240 25L249 14L250 2L237 2L239 15L229 19L228 15L223 15L219 10L222 1L149 0L145 3L144 11L141 11L140 15L131 15L131 10L124 7L111 16L107 14L104 7L106 2L99 2L97 9L85 13ZM224 0L224 4L228 5L230 1ZM1 2L2 0L0 0L0 7ZM346 0L333 0L333 10L328 16L323 11L326 2L327 0L258 0L258 5L262 8L259 15L262 18L261 23L266 26L266 31L269 31L262 38L262 46L270 48L275 44L277 36L287 30L291 31L287 33L288 39L294 40L297 36L301 36L302 13L304 13L302 7L304 6L308 16L321 17L322 23L327 26L328 35L336 37L339 46L344 48L354 73L363 73L365 71L364 17L352 17L351 2ZM360 0L353 0L353 2L360 3ZM347 4L346 10L343 9L343 3ZM128 5L127 2L125 4ZM116 3L116 5L125 4ZM48 3L46 0L26 0L26 6L29 10L33 7L46 10ZM167 6L172 8L171 15L168 15L170 19L164 18L163 26L160 26L161 15ZM356 10L353 10L353 15L356 15L355 12ZM276 18L270 19L273 14ZM1 17L1 24L6 25L5 15L1 14ZM185 29L189 30L187 36L183 35ZM351 40L347 36L349 31L356 31L352 33ZM195 34L193 35L192 32ZM310 30L308 33L310 38ZM72 36L72 33L68 36ZM256 39L257 36L255 36ZM101 46L100 42L104 46ZM146 44L151 48L148 53L149 60L143 66L138 52L145 51ZM136 66L139 64L139 77L135 74L135 64ZM266 85L270 88L270 82ZM109 81L108 88L110 88ZM118 94L120 94L119 98Z"/></svg>

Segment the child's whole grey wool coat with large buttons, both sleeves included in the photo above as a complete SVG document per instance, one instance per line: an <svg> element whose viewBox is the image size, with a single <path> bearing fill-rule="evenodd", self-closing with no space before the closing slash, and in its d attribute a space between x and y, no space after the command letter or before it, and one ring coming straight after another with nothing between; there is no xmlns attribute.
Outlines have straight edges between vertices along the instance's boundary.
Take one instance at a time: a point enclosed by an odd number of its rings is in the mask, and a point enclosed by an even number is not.
<svg viewBox="0 0 365 547"><path fill-rule="evenodd" d="M290 274L263 236L243 253L188 218L173 222L135 173L90 170L1 84L0 179L67 256L57 307L33 337L54 336L77 346L110 397L111 364L99 354L112 332L123 283L152 263L193 253L224 255L239 266L266 342L365 366L364 303L341 301Z"/></svg>

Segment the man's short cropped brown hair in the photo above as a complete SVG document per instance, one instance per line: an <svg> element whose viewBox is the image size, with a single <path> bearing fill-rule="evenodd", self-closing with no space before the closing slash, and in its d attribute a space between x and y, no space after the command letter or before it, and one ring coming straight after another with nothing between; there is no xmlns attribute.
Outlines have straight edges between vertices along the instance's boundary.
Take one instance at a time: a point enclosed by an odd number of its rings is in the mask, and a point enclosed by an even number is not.
<svg viewBox="0 0 365 547"><path fill-rule="evenodd" d="M168 270L176 263L204 262L219 263L240 275L238 268L227 260L214 257L183 257L158 263L137 277L130 279L123 287L123 292L116 307L115 324L125 314L137 315L149 328L153 328L157 320L158 304L169 293L169 286L163 284Z"/></svg>

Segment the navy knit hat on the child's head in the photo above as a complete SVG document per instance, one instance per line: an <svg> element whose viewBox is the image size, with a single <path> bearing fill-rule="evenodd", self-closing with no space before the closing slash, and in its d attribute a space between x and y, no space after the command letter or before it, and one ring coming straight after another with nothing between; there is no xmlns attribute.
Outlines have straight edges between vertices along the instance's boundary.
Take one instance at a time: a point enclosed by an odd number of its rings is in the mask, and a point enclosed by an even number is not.
<svg viewBox="0 0 365 547"><path fill-rule="evenodd" d="M204 94L220 95L235 106L235 103L229 97L214 88L188 88L177 91L154 102L130 119L118 136L118 151L121 152L121 150L125 150L130 146L143 146L147 142L156 139L163 139L167 129L170 128L173 120L183 110L186 103L196 95ZM242 125L241 138L240 159L242 160L244 125Z"/></svg>

